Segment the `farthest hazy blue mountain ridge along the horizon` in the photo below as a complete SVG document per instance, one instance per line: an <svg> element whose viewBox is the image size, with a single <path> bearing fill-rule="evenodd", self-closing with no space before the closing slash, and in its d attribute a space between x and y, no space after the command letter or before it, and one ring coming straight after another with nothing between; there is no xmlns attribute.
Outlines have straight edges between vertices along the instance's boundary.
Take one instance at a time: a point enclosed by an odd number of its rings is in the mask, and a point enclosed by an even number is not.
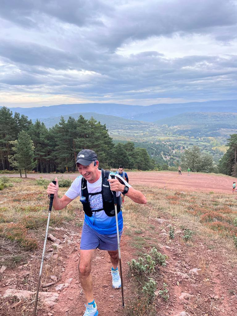
<svg viewBox="0 0 237 316"><path fill-rule="evenodd" d="M153 104L150 106L123 105L116 103L82 103L40 106L31 108L14 107L11 111L27 115L29 119L52 118L75 113L98 113L131 119L156 122L186 112L237 112L237 100L218 100L172 104Z"/></svg>

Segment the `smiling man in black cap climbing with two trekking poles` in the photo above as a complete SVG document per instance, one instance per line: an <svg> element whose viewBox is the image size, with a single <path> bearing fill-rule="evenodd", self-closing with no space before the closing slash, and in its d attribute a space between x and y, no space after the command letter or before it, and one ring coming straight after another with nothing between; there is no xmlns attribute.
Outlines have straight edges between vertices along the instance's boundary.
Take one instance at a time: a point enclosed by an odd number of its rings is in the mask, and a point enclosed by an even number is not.
<svg viewBox="0 0 237 316"><path fill-rule="evenodd" d="M54 194L53 207L62 210L73 199L80 196L85 220L82 227L79 276L88 304L84 316L97 316L97 306L94 301L91 264L98 248L108 251L112 263L112 286L121 287L118 271L119 252L117 230L115 222L115 205L113 194L117 195L119 236L123 232L123 217L120 211L120 192L130 197L132 201L146 204L146 197L131 187L128 183L120 183L118 179L108 179L109 171L99 170L99 161L93 150L84 149L77 155L76 165L81 176L77 177L62 198L58 197L58 179L56 185L50 183L47 188L48 194Z"/></svg>

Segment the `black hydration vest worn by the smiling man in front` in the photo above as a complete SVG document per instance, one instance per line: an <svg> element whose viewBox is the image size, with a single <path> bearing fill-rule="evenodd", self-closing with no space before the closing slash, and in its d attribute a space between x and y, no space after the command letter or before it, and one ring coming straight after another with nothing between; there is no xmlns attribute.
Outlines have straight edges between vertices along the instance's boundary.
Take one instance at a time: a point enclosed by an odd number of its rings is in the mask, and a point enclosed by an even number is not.
<svg viewBox="0 0 237 316"><path fill-rule="evenodd" d="M99 212L104 210L107 216L115 216L115 207L113 202L113 193L110 190L109 182L107 181L109 178L109 171L101 169L101 176L102 176L102 184L101 184L101 191L95 193L89 193L87 189L87 180L82 177L82 197L86 198L86 201L82 203L83 211L89 217L92 216L92 212ZM103 201L103 208L99 210L91 210L90 202L89 202L89 195L102 195ZM117 212L119 213L121 210L121 198L117 197Z"/></svg>

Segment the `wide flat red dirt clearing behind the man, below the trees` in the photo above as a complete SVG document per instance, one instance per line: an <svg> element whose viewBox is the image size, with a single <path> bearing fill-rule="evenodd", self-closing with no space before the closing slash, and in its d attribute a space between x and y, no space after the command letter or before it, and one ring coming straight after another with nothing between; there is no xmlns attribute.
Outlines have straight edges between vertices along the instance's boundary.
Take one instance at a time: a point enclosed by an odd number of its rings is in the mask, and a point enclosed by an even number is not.
<svg viewBox="0 0 237 316"><path fill-rule="evenodd" d="M52 179L53 177L75 179L79 173L31 173L28 178ZM6 174L9 177L20 176L18 174ZM158 188L168 190L182 190L182 191L202 191L202 192L232 192L232 184L235 180L233 177L226 175L218 175L214 173L195 173L183 172L179 175L172 171L138 171L128 172L129 183L131 185L157 186Z"/></svg>

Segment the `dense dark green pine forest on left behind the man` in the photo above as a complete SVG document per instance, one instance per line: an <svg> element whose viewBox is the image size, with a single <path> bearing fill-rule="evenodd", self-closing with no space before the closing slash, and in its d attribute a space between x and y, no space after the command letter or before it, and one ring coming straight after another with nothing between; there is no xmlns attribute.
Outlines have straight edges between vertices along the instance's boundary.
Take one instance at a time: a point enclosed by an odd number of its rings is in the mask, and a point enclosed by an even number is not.
<svg viewBox="0 0 237 316"><path fill-rule="evenodd" d="M155 167L146 149L135 148L131 142L114 145L106 125L94 118L87 120L80 115L77 120L69 117L65 121L61 117L59 124L47 129L39 120L32 123L26 116L19 113L13 116L8 108L2 107L0 126L0 170L23 169L26 173L27 168L34 167L35 171L44 173L74 171L76 155L84 148L97 153L100 167L124 165L141 170ZM25 156L22 155L24 151ZM22 161L27 164L24 166Z"/></svg>

